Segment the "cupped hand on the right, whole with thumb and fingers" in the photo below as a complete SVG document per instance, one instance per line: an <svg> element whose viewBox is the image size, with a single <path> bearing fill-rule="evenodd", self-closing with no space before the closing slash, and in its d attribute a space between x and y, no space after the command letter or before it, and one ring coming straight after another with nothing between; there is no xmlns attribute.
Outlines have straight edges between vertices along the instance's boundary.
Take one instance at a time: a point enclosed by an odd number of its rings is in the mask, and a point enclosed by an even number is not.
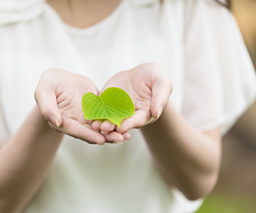
<svg viewBox="0 0 256 213"><path fill-rule="evenodd" d="M112 86L124 89L129 94L135 105L135 113L124 119L120 127L108 120L94 121L93 129L103 133L114 129L124 133L155 122L165 109L172 91L171 80L157 63L146 63L129 71L119 72L108 80L102 91Z"/></svg>

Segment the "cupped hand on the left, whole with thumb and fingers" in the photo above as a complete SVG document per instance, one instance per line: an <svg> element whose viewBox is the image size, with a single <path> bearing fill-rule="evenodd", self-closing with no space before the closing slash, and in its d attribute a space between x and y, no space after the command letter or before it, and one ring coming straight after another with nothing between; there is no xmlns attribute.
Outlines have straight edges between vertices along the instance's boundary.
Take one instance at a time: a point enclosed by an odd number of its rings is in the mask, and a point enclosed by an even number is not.
<svg viewBox="0 0 256 213"><path fill-rule="evenodd" d="M98 88L87 77L62 69L48 69L41 75L35 89L35 100L44 119L56 131L90 144L123 142L129 138L129 133L113 131L102 134L91 128L91 121L84 118L82 111L85 93L99 94Z"/></svg>

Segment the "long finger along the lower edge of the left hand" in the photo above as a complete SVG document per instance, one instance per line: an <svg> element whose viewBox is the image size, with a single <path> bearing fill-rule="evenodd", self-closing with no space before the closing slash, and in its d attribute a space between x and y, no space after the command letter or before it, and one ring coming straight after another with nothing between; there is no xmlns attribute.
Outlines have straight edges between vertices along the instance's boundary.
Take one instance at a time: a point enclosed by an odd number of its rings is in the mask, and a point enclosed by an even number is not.
<svg viewBox="0 0 256 213"><path fill-rule="evenodd" d="M101 133L94 131L90 125L81 124L77 122L77 120L63 119L62 126L54 126L54 130L61 131L73 138L88 142L89 144L103 145L105 143L105 137Z"/></svg>

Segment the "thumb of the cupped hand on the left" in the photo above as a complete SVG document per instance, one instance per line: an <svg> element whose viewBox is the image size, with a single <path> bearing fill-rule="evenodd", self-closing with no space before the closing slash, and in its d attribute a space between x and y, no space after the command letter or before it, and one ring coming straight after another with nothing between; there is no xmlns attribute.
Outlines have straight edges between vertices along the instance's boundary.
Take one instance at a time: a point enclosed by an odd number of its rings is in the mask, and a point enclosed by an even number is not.
<svg viewBox="0 0 256 213"><path fill-rule="evenodd" d="M60 127L62 125L62 112L57 106L54 91L47 85L38 83L34 96L43 118L56 127Z"/></svg>

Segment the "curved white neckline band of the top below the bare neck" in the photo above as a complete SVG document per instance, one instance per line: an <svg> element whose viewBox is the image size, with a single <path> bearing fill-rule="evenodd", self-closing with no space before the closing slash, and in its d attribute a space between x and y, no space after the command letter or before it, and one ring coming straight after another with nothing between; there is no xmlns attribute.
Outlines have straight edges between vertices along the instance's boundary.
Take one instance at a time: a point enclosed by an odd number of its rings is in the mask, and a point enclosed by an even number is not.
<svg viewBox="0 0 256 213"><path fill-rule="evenodd" d="M60 17L59 13L57 13L56 10L54 10L51 7L51 5L49 5L47 2L46 2L46 7L48 7L48 9L51 10L51 12L54 13L55 16L57 16L57 18L62 23L63 27L65 27L65 29L69 33L76 34L76 35L87 35L87 34L97 32L99 29L101 29L102 26L104 26L105 24L110 22L112 19L114 19L115 16L118 15L121 8L123 7L124 2L125 2L125 0L120 0L118 5L116 5L115 9L110 13L110 15L106 16L101 21L98 21L98 23L93 24L90 27L85 27L85 28L75 27L75 26L71 26L71 25L65 23L65 21L63 21L62 18Z"/></svg>

